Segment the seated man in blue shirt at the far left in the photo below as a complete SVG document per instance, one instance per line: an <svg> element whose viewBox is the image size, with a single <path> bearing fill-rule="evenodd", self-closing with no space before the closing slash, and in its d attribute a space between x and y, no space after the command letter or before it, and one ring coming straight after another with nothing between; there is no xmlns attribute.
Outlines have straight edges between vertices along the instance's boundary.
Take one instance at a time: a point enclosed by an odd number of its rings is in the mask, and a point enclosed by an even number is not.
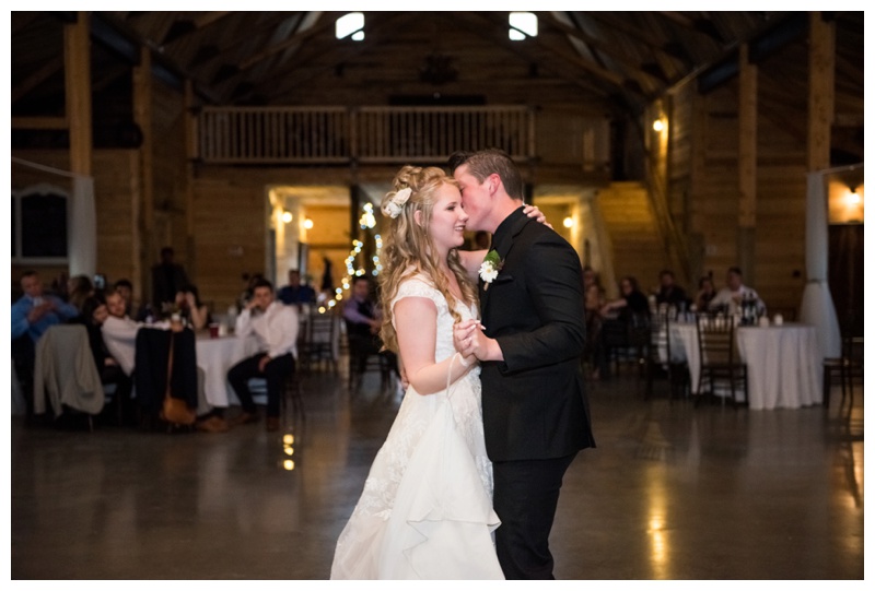
<svg viewBox="0 0 875 591"><path fill-rule="evenodd" d="M72 304L61 298L43 294L43 282L36 271L25 271L21 275L24 295L12 305L12 360L24 392L28 392L34 379L36 365L36 343L52 324L67 322L79 315Z"/></svg>

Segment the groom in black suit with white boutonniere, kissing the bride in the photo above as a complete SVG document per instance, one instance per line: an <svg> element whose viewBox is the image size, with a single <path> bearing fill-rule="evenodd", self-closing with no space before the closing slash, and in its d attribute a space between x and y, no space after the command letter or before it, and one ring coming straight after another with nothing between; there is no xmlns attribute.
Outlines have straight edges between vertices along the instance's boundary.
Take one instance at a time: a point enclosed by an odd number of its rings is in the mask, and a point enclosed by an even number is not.
<svg viewBox="0 0 875 591"><path fill-rule="evenodd" d="M595 447L580 370L582 270L574 249L523 214L523 180L498 150L450 158L467 229L493 234L480 277L481 327L459 323L457 350L482 368L483 428L494 474L499 563L508 579L552 579L548 540L562 477ZM491 252L491 251L490 251ZM498 271L498 274L494 273Z"/></svg>

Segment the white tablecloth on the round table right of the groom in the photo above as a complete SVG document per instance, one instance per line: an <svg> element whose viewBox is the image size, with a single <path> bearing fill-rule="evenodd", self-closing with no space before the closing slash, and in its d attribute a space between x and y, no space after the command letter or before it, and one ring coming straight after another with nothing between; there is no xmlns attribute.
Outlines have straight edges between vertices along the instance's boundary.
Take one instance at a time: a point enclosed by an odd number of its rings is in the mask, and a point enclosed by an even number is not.
<svg viewBox="0 0 875 591"><path fill-rule="evenodd" d="M687 359L690 390L698 394L701 364L696 324L673 322L669 330L673 357ZM740 327L736 341L747 364L751 410L798 409L822 401L822 365L814 327Z"/></svg>

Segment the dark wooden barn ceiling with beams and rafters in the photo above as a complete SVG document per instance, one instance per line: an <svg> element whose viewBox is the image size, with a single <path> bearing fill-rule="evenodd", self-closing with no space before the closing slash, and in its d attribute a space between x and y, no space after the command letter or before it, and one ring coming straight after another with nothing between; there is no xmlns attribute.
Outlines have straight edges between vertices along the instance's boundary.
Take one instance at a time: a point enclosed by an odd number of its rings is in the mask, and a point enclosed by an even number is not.
<svg viewBox="0 0 875 591"><path fill-rule="evenodd" d="M536 37L512 42L508 12L364 12L364 39L354 42L335 37L342 14L89 13L93 88L124 93L145 47L159 79L191 80L201 104L385 105L431 97L568 104L629 116L690 79L703 91L731 79L740 44L749 45L751 60L793 43L804 51L808 19L770 11L545 11L535 12ZM863 13L824 14L838 24L837 69L851 74L837 78L859 74L859 87L839 85L837 105L844 94L862 102ZM78 13L11 15L13 115L62 110L62 26ZM801 63L789 68L804 67L804 52L797 57ZM805 96L802 87L785 92ZM95 99L105 103L112 101Z"/></svg>

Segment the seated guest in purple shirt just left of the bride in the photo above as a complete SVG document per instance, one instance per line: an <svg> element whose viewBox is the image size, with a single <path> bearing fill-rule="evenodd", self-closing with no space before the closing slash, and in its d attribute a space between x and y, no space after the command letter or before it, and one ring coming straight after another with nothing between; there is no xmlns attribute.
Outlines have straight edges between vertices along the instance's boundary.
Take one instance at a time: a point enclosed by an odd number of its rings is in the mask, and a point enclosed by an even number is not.
<svg viewBox="0 0 875 591"><path fill-rule="evenodd" d="M395 353L383 348L380 328L383 324L380 307L371 297L371 281L364 275L352 277L351 297L343 304L343 321L347 324L347 340L354 370L361 374L370 355L383 355L396 373L398 371ZM353 369L351 367L351 369Z"/></svg>

